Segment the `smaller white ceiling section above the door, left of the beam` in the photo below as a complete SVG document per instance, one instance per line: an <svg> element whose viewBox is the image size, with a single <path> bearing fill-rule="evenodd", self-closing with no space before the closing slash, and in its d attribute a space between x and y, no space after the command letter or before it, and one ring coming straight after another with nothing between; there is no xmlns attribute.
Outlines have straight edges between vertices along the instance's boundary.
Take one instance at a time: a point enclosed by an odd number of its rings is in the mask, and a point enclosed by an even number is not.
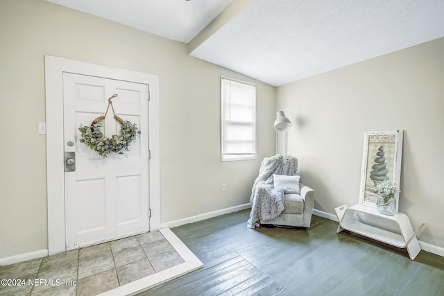
<svg viewBox="0 0 444 296"><path fill-rule="evenodd" d="M46 0L188 43L233 0Z"/></svg>

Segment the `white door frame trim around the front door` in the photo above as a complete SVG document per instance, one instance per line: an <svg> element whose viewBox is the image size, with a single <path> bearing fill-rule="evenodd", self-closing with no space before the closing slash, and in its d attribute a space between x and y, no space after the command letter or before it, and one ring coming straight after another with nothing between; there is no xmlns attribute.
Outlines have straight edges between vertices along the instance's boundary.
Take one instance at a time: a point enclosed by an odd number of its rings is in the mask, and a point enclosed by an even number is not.
<svg viewBox="0 0 444 296"><path fill-rule="evenodd" d="M149 85L149 204L150 229L160 228L159 77L142 72L45 55L46 179L48 200L48 253L66 251L65 173L63 144L63 72L140 82ZM147 151L148 153L148 151Z"/></svg>

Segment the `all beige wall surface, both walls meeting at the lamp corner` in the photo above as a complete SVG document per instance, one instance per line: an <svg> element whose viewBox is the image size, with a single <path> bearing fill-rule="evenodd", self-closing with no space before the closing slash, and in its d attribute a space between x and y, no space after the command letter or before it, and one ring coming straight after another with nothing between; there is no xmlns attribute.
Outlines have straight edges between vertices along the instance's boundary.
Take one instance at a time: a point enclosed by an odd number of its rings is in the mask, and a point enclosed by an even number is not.
<svg viewBox="0 0 444 296"><path fill-rule="evenodd" d="M444 247L444 39L275 88L257 82L258 159L220 162L219 77L255 82L187 55L186 44L43 0L0 0L0 259L47 248L44 55L160 77L161 222L248 202L274 153L275 110L316 209L359 198L365 130L404 130L400 211ZM221 192L221 184L228 191Z"/></svg>

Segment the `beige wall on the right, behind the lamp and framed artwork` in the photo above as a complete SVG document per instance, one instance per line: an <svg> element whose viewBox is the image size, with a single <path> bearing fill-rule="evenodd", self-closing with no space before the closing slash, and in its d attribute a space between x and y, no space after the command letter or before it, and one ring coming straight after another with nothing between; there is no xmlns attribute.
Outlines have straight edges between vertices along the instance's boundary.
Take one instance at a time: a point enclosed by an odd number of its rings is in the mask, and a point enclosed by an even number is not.
<svg viewBox="0 0 444 296"><path fill-rule="evenodd" d="M444 247L444 38L277 89L277 109L296 123L289 154L315 208L359 202L366 130L404 130L399 210L419 239Z"/></svg>

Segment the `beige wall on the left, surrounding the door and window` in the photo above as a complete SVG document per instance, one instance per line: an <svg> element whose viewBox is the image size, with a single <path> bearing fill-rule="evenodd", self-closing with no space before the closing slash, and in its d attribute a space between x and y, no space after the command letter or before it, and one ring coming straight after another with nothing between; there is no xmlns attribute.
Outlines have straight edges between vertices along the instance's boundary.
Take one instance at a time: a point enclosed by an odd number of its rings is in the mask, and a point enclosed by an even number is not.
<svg viewBox="0 0 444 296"><path fill-rule="evenodd" d="M257 82L259 157L221 163L220 76L255 80L186 44L42 0L0 0L0 40L0 259L47 248L44 55L159 76L161 223L246 204L274 153L275 88Z"/></svg>

